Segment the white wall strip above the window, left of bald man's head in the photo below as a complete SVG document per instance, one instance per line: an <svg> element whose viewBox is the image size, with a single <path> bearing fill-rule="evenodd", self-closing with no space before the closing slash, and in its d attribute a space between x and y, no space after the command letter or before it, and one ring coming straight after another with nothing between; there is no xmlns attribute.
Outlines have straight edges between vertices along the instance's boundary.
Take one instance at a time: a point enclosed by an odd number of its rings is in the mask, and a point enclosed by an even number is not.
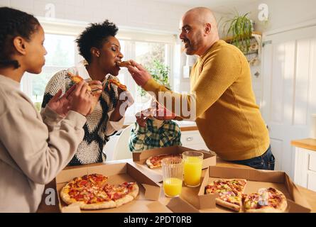
<svg viewBox="0 0 316 227"><path fill-rule="evenodd" d="M179 19L187 6L146 0L0 0L10 6L45 16L45 6L54 4L56 18L99 22L109 19L117 26L177 33Z"/></svg>

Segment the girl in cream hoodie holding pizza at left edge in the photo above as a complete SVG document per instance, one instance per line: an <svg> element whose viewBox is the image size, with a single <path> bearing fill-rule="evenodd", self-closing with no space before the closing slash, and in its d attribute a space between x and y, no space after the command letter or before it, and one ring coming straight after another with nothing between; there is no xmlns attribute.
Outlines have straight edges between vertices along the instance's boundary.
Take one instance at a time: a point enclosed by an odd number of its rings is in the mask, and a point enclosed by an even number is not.
<svg viewBox="0 0 316 227"><path fill-rule="evenodd" d="M34 16L0 8L0 212L38 209L45 184L75 155L93 103L80 82L57 92L40 116L21 92L24 72L39 74L45 64L44 38Z"/></svg>

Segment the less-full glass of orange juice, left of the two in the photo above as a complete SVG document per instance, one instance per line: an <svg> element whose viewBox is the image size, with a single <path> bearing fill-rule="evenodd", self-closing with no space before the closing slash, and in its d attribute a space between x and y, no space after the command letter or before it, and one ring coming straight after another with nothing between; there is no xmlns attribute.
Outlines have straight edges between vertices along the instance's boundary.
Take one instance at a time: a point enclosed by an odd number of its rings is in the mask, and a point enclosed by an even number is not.
<svg viewBox="0 0 316 227"><path fill-rule="evenodd" d="M183 163L181 157L166 157L162 161L163 192L165 196L180 196L183 179Z"/></svg>

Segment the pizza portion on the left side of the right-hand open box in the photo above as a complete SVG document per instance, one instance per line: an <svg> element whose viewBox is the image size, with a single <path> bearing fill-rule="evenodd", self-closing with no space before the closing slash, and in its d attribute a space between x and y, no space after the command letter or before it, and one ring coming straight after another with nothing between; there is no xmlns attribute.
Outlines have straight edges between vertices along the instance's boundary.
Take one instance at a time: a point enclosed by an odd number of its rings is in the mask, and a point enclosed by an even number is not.
<svg viewBox="0 0 316 227"><path fill-rule="evenodd" d="M218 194L216 204L240 211L246 179L217 179L205 187L205 194Z"/></svg>

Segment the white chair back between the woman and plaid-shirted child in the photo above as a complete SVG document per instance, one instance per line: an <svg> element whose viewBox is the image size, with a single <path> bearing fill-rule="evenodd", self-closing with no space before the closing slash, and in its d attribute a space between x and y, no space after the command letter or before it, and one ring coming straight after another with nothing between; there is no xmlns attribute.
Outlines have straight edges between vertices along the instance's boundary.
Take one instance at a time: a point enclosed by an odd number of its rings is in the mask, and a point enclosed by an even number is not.
<svg viewBox="0 0 316 227"><path fill-rule="evenodd" d="M119 135L114 146L113 160L129 159L133 157L131 150L129 150L129 138L131 137L131 128L133 127L134 123L127 128L124 128L121 135Z"/></svg>

